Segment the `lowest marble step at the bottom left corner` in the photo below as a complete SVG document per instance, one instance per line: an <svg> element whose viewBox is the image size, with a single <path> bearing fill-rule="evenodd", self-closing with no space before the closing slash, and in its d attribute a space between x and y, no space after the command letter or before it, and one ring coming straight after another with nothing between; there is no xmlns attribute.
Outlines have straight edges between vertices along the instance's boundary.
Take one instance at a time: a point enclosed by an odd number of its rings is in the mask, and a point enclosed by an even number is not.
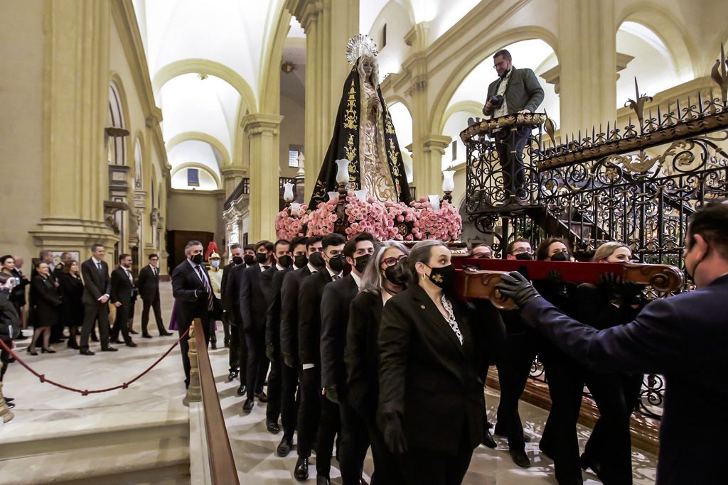
<svg viewBox="0 0 728 485"><path fill-rule="evenodd" d="M189 438L116 441L0 461L3 485L189 484Z"/></svg>

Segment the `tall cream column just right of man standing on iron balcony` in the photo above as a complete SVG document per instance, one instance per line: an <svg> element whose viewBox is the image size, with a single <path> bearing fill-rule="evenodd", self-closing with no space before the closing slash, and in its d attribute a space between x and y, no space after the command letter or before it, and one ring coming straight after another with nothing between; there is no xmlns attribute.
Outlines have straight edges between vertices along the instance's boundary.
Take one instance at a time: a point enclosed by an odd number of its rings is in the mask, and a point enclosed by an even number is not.
<svg viewBox="0 0 728 485"><path fill-rule="evenodd" d="M561 138L617 119L614 0L559 0Z"/></svg>

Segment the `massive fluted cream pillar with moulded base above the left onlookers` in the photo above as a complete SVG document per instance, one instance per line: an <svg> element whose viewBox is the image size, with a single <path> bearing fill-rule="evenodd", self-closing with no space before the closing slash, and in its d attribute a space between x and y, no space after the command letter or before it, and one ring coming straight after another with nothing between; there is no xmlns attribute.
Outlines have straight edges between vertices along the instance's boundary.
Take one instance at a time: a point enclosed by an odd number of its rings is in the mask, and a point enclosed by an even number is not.
<svg viewBox="0 0 728 485"><path fill-rule="evenodd" d="M111 246L118 240L104 223L103 207L109 2L47 1L44 8L43 211L31 235L36 246L87 254L92 242Z"/></svg>

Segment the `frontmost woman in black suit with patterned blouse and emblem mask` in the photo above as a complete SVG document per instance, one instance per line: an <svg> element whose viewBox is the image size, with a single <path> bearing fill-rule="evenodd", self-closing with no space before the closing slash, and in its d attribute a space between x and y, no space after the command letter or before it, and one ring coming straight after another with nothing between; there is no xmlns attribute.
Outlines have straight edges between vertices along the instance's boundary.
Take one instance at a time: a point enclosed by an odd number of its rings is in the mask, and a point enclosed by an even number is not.
<svg viewBox="0 0 728 485"><path fill-rule="evenodd" d="M461 483L483 438L484 328L499 316L491 306L475 323L450 259L442 241L415 244L410 284L381 313L377 422L405 484Z"/></svg>

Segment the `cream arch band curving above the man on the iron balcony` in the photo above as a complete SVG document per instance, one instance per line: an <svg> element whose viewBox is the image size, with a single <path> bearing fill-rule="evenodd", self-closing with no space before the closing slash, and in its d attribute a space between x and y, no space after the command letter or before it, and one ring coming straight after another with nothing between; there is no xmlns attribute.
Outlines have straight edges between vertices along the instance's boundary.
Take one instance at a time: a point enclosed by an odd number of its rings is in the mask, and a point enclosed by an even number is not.
<svg viewBox="0 0 728 485"><path fill-rule="evenodd" d="M469 46L471 54L450 69L450 76L448 76L448 79L446 79L443 83L443 87L438 92L438 95L434 98L435 105L433 106L432 114L430 115L431 132L440 133L437 130L446 121L444 119L444 115L448 104L460 84L462 84L462 81L464 81L464 79L470 74L470 71L482 63L486 57L491 55L492 52L496 52L499 47L530 39L539 39L544 41L551 47L551 49L553 49L553 52L558 59L558 39L556 39L556 36L553 32L535 25L512 28L498 36L476 41Z"/></svg>

